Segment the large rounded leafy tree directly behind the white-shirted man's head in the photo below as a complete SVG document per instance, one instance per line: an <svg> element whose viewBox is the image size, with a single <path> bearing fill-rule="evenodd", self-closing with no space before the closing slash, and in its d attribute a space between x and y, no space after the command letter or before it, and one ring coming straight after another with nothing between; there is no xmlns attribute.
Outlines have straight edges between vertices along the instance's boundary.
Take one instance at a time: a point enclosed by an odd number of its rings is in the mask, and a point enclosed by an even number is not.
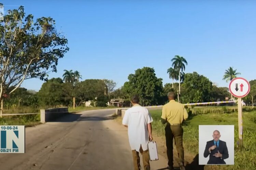
<svg viewBox="0 0 256 170"><path fill-rule="evenodd" d="M143 67L128 76L124 91L130 96L137 93L143 106L162 104L162 79L157 78L154 68Z"/></svg>

